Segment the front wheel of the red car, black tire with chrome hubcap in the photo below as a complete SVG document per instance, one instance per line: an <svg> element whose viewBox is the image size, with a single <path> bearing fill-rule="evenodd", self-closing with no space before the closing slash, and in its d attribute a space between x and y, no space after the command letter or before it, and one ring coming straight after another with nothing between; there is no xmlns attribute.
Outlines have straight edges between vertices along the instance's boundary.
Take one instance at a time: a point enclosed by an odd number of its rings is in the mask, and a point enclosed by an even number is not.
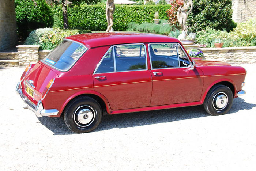
<svg viewBox="0 0 256 171"><path fill-rule="evenodd" d="M204 100L204 109L210 115L226 114L233 103L233 93L229 87L217 84L212 87Z"/></svg>

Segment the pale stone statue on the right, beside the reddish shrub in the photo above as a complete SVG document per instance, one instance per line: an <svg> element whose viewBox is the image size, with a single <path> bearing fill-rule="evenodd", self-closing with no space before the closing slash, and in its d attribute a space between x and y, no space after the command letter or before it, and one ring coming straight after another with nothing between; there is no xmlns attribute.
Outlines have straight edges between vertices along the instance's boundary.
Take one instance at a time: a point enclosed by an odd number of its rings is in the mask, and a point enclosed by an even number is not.
<svg viewBox="0 0 256 171"><path fill-rule="evenodd" d="M186 25L188 15L191 13L193 9L193 2L192 0L186 0L183 1L183 6L181 5L178 9L177 18L178 22L180 23L180 26L182 28L182 33L187 34L188 33L188 27ZM188 11L188 7L190 6L190 9ZM188 13L187 13L188 11Z"/></svg>

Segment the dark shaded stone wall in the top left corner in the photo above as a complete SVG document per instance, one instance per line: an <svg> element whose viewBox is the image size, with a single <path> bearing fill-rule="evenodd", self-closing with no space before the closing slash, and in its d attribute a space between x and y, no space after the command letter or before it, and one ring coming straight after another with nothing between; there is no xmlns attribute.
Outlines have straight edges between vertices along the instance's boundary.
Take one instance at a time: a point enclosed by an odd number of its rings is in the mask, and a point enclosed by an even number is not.
<svg viewBox="0 0 256 171"><path fill-rule="evenodd" d="M0 0L0 50L17 43L14 0Z"/></svg>

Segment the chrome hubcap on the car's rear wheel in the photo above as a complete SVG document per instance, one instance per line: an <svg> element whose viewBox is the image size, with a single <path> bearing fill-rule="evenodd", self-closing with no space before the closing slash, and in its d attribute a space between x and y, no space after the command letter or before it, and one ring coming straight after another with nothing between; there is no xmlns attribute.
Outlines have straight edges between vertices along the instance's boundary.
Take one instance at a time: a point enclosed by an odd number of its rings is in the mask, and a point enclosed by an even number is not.
<svg viewBox="0 0 256 171"><path fill-rule="evenodd" d="M81 127L89 126L95 116L94 109L91 106L79 106L74 113L74 121Z"/></svg>

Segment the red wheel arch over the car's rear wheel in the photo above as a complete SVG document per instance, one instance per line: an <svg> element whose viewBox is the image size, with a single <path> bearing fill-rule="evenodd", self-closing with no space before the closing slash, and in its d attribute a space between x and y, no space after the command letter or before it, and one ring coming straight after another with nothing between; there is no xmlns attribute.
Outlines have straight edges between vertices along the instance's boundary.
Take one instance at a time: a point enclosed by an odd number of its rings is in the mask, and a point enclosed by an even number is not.
<svg viewBox="0 0 256 171"><path fill-rule="evenodd" d="M108 100L105 98L105 96L103 96L102 94L100 94L99 92L95 92L92 90L89 91L81 91L81 92L77 92L73 95L71 95L62 105L61 107L61 114L63 114L65 107L68 105L68 103L70 103L72 100L80 97L80 96L88 96L91 97L95 100L97 100L97 102L101 105L102 107L102 113L103 114L109 114L111 111L110 106L109 106L109 102Z"/></svg>

